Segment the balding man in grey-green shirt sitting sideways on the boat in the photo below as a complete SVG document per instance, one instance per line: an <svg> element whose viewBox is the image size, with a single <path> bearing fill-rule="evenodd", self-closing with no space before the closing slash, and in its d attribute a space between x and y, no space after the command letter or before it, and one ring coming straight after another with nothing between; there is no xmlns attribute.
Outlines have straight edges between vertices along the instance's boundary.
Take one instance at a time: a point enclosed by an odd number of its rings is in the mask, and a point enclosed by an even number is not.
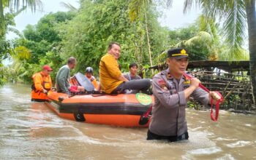
<svg viewBox="0 0 256 160"><path fill-rule="evenodd" d="M70 91L84 92L84 87L72 86L69 84L70 70L74 69L76 65L75 57L69 57L67 65L62 66L56 75L56 89L57 92L69 94Z"/></svg>

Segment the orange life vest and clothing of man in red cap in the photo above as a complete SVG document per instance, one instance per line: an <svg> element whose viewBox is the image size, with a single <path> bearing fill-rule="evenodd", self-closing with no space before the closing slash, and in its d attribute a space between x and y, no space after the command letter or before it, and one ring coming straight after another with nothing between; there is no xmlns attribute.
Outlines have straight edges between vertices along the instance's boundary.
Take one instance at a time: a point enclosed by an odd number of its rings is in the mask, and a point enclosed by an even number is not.
<svg viewBox="0 0 256 160"><path fill-rule="evenodd" d="M52 81L50 76L45 76L42 72L35 73L32 76L34 84L32 85L31 98L32 100L48 100L48 97L43 93L43 89L50 91L52 87Z"/></svg>

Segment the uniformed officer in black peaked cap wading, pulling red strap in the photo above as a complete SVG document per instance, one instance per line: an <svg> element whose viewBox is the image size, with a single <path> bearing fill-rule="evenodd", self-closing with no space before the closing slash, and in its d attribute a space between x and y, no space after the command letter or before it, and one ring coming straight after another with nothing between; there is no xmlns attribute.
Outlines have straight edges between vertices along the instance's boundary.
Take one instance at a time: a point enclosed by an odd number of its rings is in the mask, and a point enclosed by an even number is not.
<svg viewBox="0 0 256 160"><path fill-rule="evenodd" d="M216 92L206 92L199 88L200 81L184 76L188 65L186 49L175 48L167 51L165 71L153 77L154 106L147 140L187 140L185 109L190 96L208 105L210 98L214 104L220 99Z"/></svg>

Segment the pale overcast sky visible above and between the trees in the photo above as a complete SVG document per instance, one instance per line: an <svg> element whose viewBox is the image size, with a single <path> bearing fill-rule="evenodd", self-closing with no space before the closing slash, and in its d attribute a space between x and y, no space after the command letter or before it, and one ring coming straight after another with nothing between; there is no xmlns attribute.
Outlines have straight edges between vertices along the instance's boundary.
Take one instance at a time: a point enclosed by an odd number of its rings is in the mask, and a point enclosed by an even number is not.
<svg viewBox="0 0 256 160"><path fill-rule="evenodd" d="M79 7L77 0L42 0L43 12L37 11L32 13L28 9L27 11L20 13L20 15L15 17L15 28L17 28L19 31L23 31L26 28L26 25L37 24L38 20L45 14L50 12L67 11L67 9L61 5L61 1L72 4L74 7ZM184 15L183 1L181 0L174 0L173 6L167 9L163 9L162 12L164 15L159 18L159 22L161 25L172 29L181 28L188 25L189 23L193 23L200 14L199 10L192 9L191 12ZM15 38L15 34L10 33L7 35L7 39L13 38Z"/></svg>

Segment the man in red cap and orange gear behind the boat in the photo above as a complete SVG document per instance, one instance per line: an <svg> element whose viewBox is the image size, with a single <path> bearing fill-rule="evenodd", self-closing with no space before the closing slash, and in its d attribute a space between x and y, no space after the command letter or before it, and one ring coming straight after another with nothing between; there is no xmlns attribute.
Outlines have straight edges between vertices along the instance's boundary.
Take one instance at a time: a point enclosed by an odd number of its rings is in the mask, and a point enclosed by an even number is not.
<svg viewBox="0 0 256 160"><path fill-rule="evenodd" d="M50 72L53 71L49 65L44 65L42 71L32 76L34 84L31 86L31 101L48 101L47 93L52 87Z"/></svg>

